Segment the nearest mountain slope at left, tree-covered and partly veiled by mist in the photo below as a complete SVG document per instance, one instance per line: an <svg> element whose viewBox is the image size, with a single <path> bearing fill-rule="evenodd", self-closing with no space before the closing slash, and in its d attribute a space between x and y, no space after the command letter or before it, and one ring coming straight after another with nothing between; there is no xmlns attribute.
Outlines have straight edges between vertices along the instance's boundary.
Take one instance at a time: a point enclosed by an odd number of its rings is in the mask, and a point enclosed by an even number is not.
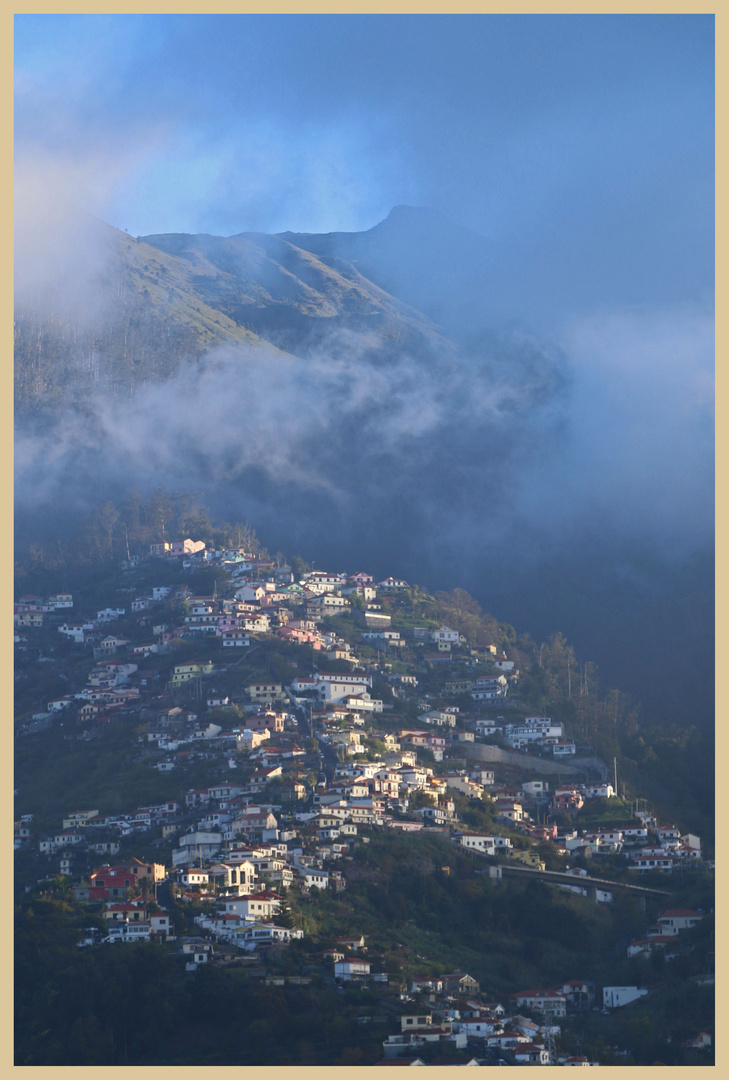
<svg viewBox="0 0 729 1080"><path fill-rule="evenodd" d="M195 291L189 264L78 215L55 276L39 273L15 305L19 417L129 395L217 345L259 339ZM73 245L73 246L71 246Z"/></svg>

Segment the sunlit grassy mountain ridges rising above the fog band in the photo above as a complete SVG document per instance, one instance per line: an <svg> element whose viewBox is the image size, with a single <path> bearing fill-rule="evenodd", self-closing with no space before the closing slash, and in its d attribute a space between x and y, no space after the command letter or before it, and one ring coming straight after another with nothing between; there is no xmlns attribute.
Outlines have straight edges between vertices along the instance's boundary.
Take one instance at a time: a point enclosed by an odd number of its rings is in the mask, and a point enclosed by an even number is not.
<svg viewBox="0 0 729 1080"><path fill-rule="evenodd" d="M18 415L57 411L100 390L129 396L220 346L311 355L348 348L392 363L434 360L454 346L430 319L367 281L350 262L264 233L134 239L66 212L55 273L21 291L15 310ZM32 280L32 273L26 273ZM39 273L39 276L42 276Z"/></svg>

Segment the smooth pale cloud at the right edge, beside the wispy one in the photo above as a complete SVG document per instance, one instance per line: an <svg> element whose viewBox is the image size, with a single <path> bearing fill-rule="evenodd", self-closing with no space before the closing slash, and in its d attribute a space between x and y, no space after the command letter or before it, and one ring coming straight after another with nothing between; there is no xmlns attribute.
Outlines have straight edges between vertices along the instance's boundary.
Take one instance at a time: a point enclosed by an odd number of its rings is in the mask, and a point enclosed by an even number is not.
<svg viewBox="0 0 729 1080"><path fill-rule="evenodd" d="M676 554L713 542L714 320L701 308L563 327L569 434L530 470L522 512L548 534L607 529Z"/></svg>

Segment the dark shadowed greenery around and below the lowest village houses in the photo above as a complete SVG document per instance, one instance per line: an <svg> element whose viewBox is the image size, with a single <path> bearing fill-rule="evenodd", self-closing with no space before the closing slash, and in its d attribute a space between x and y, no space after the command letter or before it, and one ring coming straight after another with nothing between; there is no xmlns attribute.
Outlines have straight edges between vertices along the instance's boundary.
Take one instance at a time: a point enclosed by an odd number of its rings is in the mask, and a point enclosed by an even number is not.
<svg viewBox="0 0 729 1080"><path fill-rule="evenodd" d="M474 875L473 859L436 835L366 835L346 892L287 893L282 919L306 931L303 942L195 973L185 972L173 944L77 948L94 917L67 896L36 893L16 913L17 1064L373 1064L395 1029L397 989L415 975L451 971L468 972L497 999L575 977L649 985L648 998L615 1017L570 1021L573 1051L609 1064L617 1039L630 1055L622 1064L691 1061L680 1041L712 1024L713 990L691 981L714 947L711 917L689 932L683 958L627 960L625 941L656 915L654 902L647 914L621 895L588 904L555 887ZM696 882L676 892L681 906L708 899ZM180 932L193 914L183 910L177 904ZM315 959L354 934L365 934L368 959L390 973L394 999L387 987L337 989ZM301 972L310 980L303 986L264 982ZM360 1020L382 1012L386 1026Z"/></svg>

